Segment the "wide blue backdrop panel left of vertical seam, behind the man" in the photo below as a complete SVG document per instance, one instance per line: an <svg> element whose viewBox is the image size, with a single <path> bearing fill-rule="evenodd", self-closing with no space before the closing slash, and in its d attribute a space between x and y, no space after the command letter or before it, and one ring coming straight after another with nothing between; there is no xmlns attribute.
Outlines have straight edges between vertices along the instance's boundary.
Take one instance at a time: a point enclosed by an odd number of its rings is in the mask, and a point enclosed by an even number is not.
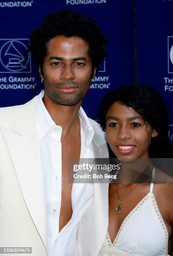
<svg viewBox="0 0 173 256"><path fill-rule="evenodd" d="M98 119L103 96L134 82L133 0L0 2L0 107L23 104L43 89L38 67L27 53L27 38L45 15L61 8L94 18L110 41L108 57L83 101L88 116Z"/></svg>

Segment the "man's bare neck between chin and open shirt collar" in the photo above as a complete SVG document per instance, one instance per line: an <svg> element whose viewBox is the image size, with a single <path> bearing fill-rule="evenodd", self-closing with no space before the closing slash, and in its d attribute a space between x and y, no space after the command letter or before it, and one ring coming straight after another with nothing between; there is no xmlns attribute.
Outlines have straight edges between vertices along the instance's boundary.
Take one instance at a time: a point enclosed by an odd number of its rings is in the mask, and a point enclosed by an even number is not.
<svg viewBox="0 0 173 256"><path fill-rule="evenodd" d="M73 106L65 106L51 100L47 95L43 97L45 108L48 110L55 124L62 127L64 135L68 132L75 131L76 126L79 125L78 112L81 102Z"/></svg>

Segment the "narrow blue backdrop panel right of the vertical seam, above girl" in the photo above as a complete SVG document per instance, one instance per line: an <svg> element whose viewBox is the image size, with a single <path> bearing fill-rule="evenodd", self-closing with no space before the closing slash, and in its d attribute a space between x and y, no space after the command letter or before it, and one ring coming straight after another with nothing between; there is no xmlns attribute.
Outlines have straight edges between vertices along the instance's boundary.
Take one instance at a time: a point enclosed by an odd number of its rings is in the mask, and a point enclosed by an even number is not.
<svg viewBox="0 0 173 256"><path fill-rule="evenodd" d="M173 142L173 0L135 0L135 6L137 80L167 103Z"/></svg>

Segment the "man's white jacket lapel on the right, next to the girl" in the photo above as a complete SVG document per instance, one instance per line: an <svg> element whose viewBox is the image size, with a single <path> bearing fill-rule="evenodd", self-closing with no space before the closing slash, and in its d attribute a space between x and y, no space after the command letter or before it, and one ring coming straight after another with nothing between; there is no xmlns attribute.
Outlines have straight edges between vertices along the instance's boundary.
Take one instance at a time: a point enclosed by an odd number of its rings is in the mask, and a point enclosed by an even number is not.
<svg viewBox="0 0 173 256"><path fill-rule="evenodd" d="M108 158L108 146L95 132L91 148L95 158ZM88 184L88 186L91 184ZM108 183L93 183L93 202L78 228L80 256L98 256L108 231ZM89 245L89 246L88 246Z"/></svg>

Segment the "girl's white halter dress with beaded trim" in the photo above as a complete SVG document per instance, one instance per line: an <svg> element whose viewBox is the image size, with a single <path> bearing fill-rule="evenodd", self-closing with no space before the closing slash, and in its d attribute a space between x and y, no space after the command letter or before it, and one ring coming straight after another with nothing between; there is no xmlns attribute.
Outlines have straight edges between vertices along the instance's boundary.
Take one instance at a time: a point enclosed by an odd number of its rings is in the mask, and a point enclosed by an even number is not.
<svg viewBox="0 0 173 256"><path fill-rule="evenodd" d="M155 168L153 168L153 177ZM107 233L98 256L167 256L168 231L150 192L128 214L113 243Z"/></svg>

